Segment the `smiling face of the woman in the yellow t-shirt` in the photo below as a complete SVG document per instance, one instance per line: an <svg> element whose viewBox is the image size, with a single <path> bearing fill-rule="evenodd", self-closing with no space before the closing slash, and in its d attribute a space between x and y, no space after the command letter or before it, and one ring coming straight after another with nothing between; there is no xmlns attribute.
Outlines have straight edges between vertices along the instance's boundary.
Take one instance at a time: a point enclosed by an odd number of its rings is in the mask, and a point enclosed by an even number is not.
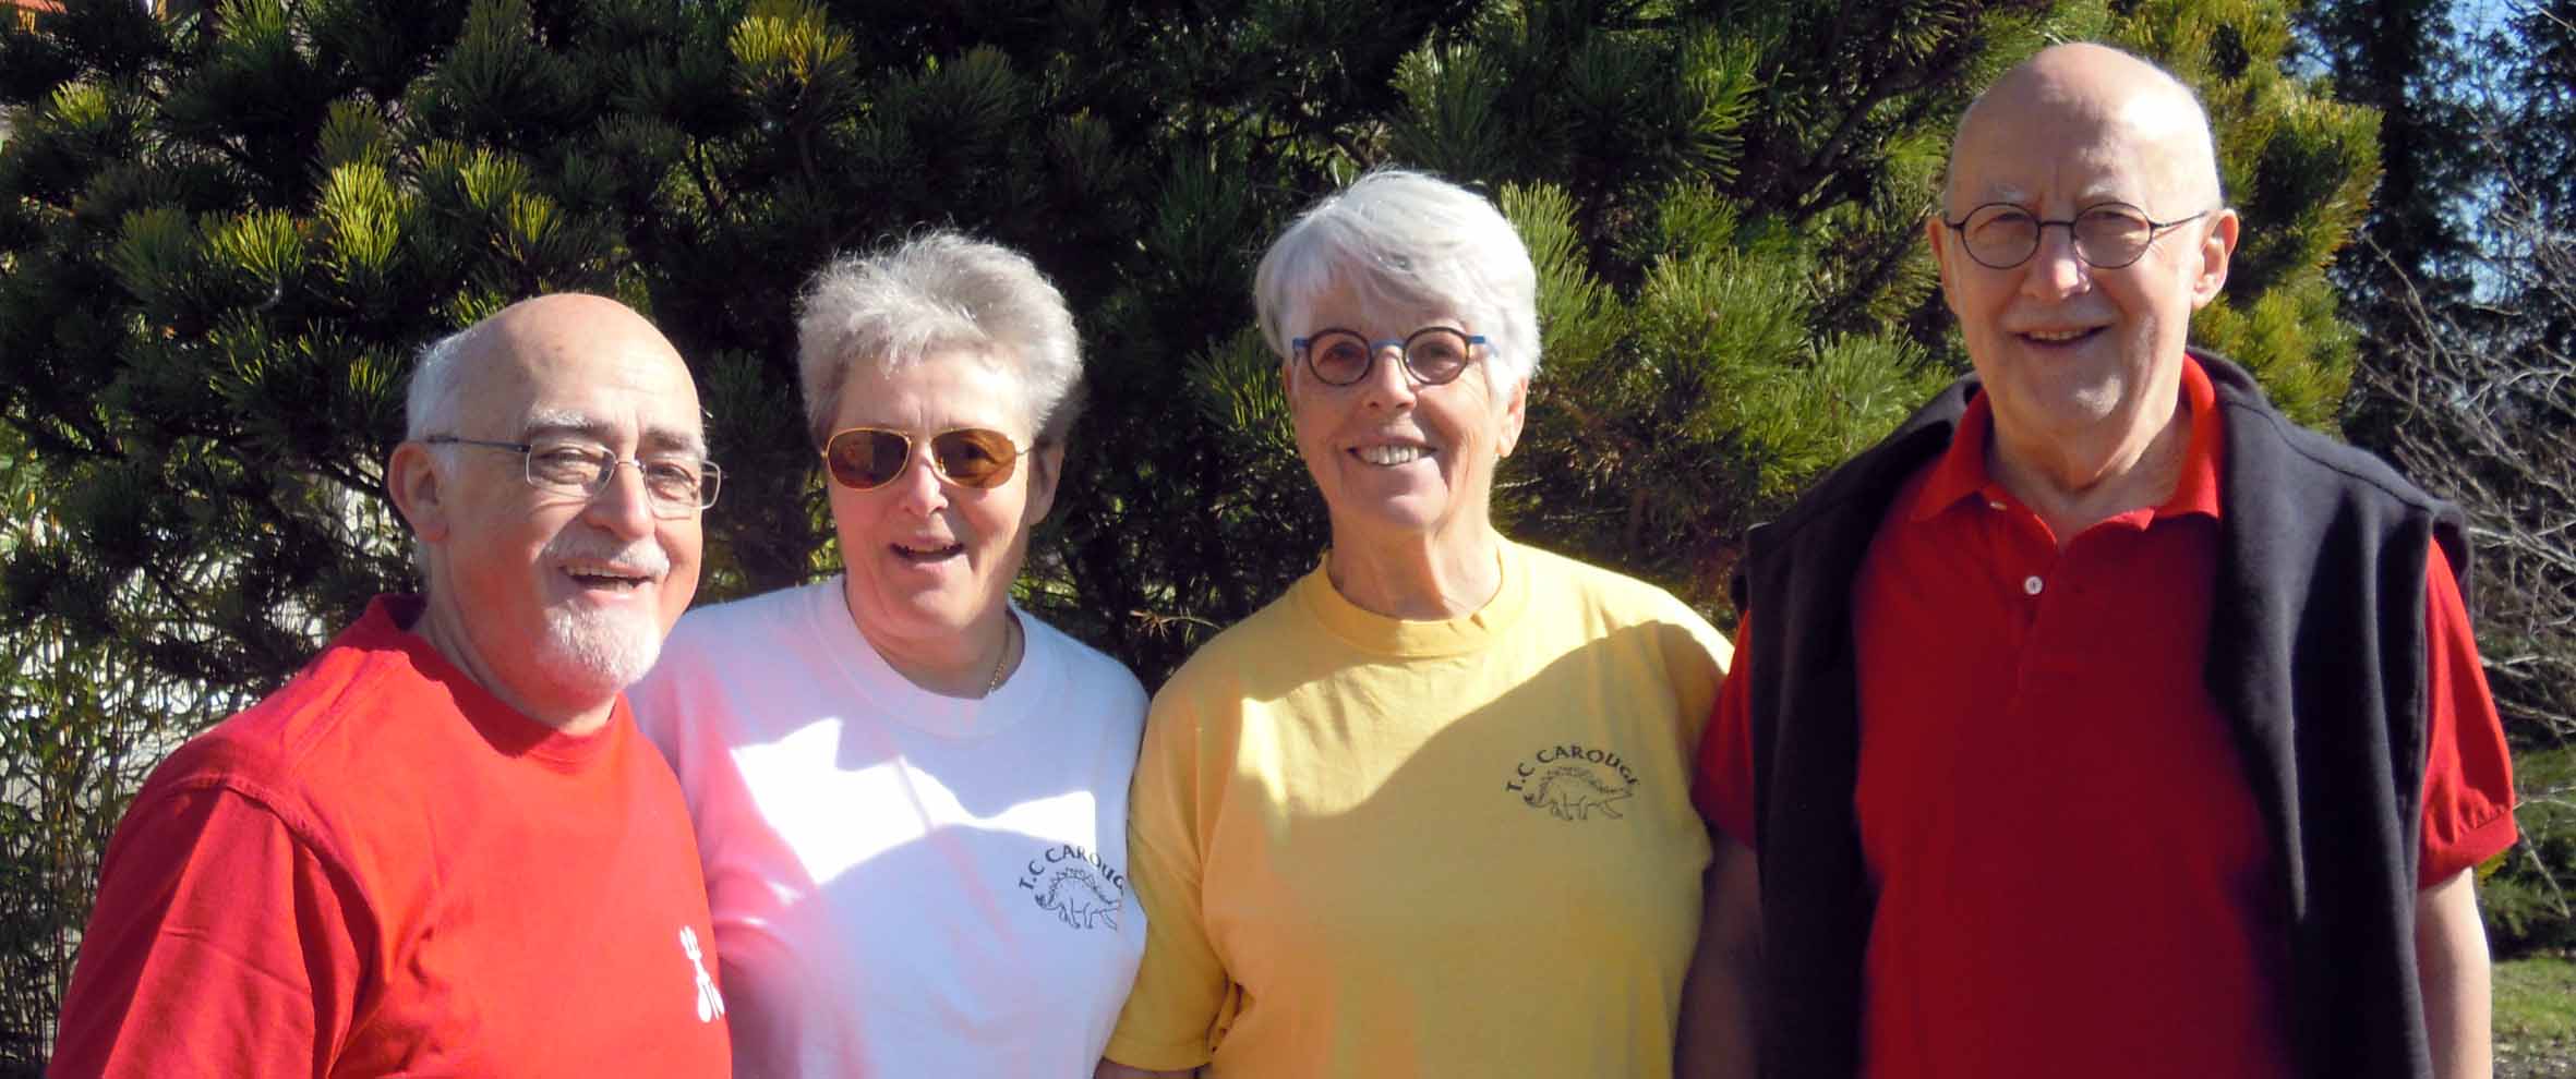
<svg viewBox="0 0 2576 1079"><path fill-rule="evenodd" d="M1360 304L1342 286L1296 304L1288 324L1298 337L1352 330L1373 342L1422 327L1476 332L1455 312ZM1352 386L1327 386L1296 355L1280 368L1298 453L1324 492L1337 549L1492 528L1494 464L1520 440L1528 381L1497 386L1481 355L1479 348L1476 361L1440 386L1417 384L1394 345L1381 348Z"/></svg>

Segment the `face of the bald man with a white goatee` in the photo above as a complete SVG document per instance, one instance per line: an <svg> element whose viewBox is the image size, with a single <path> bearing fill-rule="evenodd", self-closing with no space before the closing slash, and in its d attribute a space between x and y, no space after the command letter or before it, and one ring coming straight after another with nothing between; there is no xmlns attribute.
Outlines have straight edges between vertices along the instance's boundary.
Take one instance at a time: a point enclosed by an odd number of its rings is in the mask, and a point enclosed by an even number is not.
<svg viewBox="0 0 2576 1079"><path fill-rule="evenodd" d="M435 433L706 456L688 368L613 301L518 304L453 363L469 368L448 430ZM533 718L603 716L698 590L701 515L657 515L631 466L582 497L531 487L515 451L404 443L389 482L428 561L415 631Z"/></svg>

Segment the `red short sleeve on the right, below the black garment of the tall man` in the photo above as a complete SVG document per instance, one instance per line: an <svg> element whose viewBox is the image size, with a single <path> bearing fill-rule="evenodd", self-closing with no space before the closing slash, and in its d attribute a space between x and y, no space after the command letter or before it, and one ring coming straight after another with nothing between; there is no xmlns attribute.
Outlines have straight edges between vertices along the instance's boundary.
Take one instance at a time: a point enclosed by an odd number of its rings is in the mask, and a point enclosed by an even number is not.
<svg viewBox="0 0 2576 1079"><path fill-rule="evenodd" d="M2429 888L2514 845L2514 765L2486 690L2460 579L2442 546L2424 561L2424 840L2416 886Z"/></svg>

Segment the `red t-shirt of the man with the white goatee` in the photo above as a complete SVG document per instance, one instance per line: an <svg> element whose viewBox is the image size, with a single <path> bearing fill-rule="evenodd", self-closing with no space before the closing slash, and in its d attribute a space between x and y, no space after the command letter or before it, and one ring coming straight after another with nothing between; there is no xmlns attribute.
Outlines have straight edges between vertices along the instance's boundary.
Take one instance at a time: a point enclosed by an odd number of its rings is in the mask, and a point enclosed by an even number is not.
<svg viewBox="0 0 2576 1079"><path fill-rule="evenodd" d="M724 1076L688 806L618 700L528 721L379 597L108 845L54 1076Z"/></svg>

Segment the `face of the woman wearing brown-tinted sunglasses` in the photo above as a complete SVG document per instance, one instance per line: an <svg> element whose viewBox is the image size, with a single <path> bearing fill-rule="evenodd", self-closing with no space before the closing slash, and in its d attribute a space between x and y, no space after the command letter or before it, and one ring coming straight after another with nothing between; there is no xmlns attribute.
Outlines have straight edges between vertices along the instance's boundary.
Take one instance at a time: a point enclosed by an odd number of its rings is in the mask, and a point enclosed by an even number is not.
<svg viewBox="0 0 2576 1079"><path fill-rule="evenodd" d="M938 657L999 628L1028 530L1054 507L1064 464L1061 443L1030 448L1036 425L1023 397L1012 379L961 350L899 371L853 366L842 384L832 430L912 435L912 461L894 482L866 492L827 484L850 615L878 654ZM1010 479L987 489L943 482L925 440L951 427L1010 435L1020 448Z"/></svg>

